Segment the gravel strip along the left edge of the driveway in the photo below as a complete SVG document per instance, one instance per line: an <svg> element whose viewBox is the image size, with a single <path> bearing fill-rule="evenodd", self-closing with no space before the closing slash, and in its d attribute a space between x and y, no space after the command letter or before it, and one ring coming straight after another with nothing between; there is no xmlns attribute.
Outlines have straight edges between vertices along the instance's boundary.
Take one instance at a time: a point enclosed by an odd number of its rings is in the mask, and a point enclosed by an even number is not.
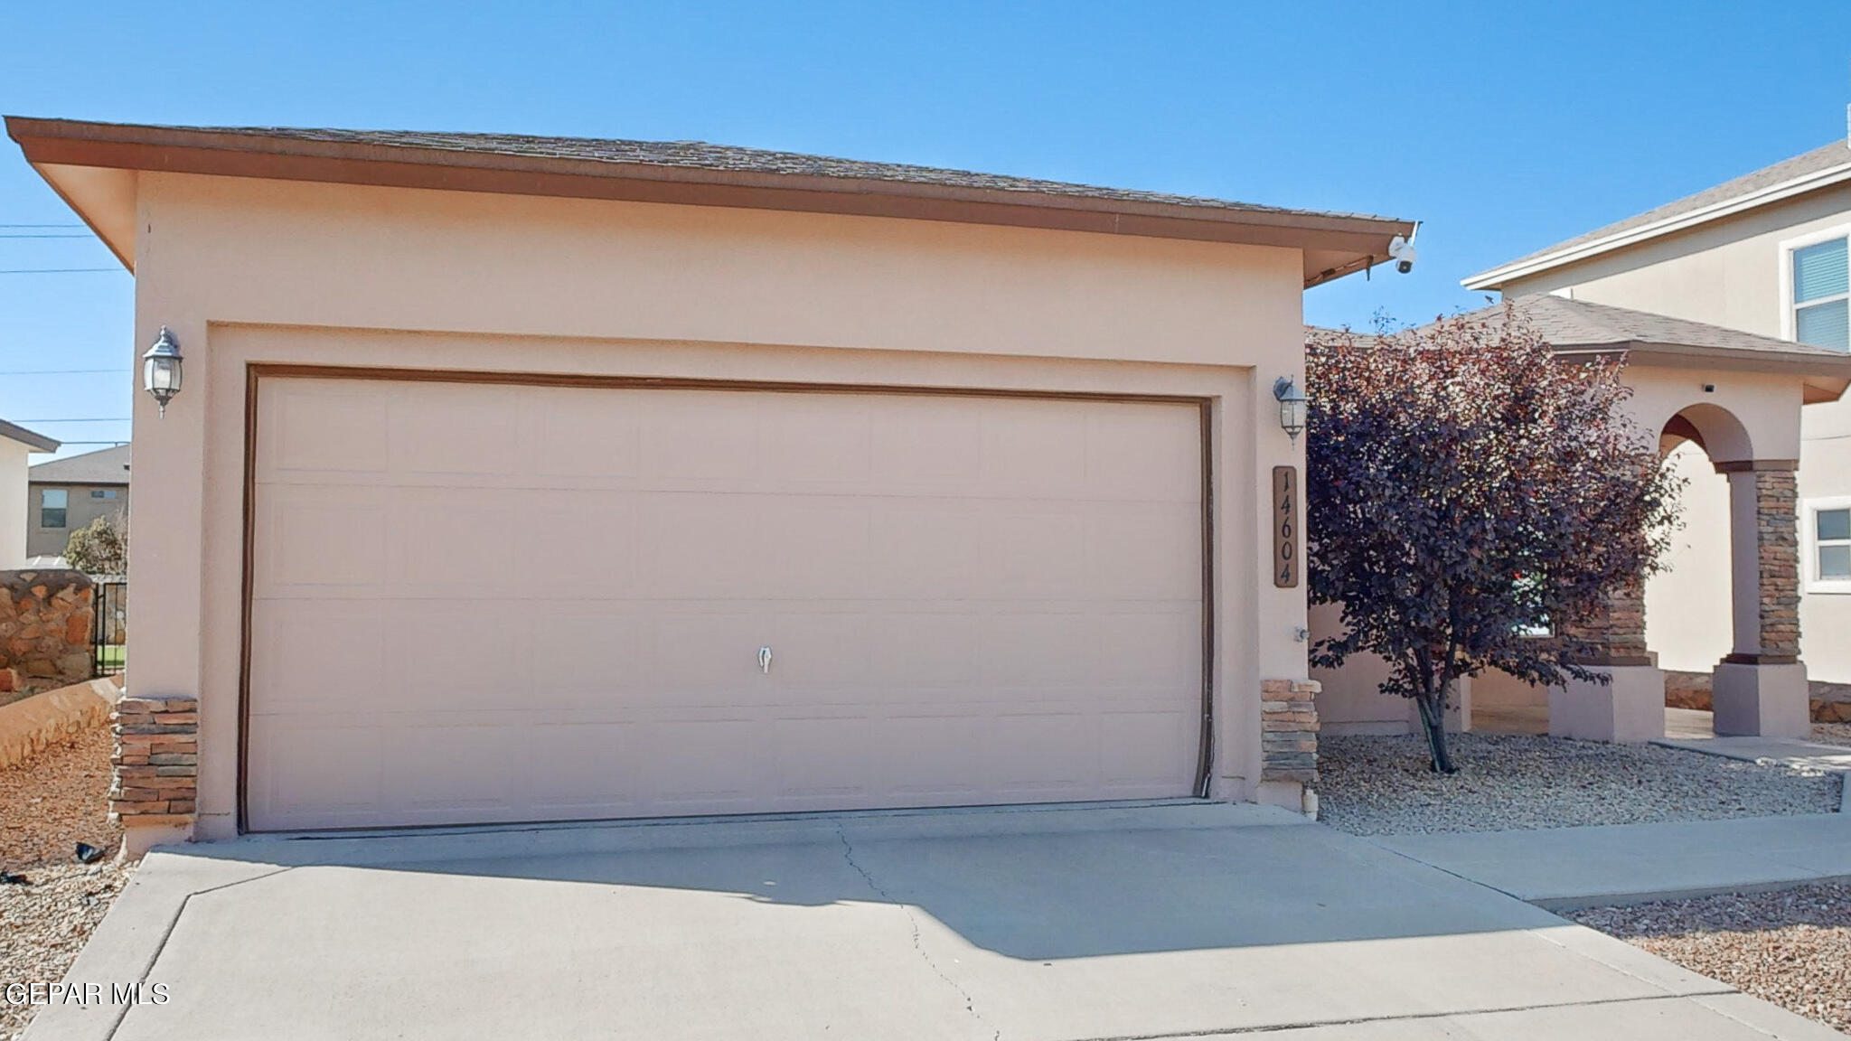
<svg viewBox="0 0 1851 1041"><path fill-rule="evenodd" d="M0 771L0 987L57 982L128 882L113 863L109 730L98 726ZM76 863L78 843L106 852ZM35 1010L0 1002L0 1037L17 1037Z"/></svg>

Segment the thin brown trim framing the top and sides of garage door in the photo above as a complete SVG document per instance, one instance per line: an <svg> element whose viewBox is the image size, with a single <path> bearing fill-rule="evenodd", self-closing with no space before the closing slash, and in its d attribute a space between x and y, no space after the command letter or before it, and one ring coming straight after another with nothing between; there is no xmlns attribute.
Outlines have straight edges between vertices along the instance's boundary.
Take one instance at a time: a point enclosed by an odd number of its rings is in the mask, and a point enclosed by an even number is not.
<svg viewBox="0 0 1851 1041"><path fill-rule="evenodd" d="M265 378L300 380L378 380L435 383L503 383L524 387L587 389L661 389L661 391L742 391L785 395L909 395L955 398L1040 398L1081 402L1179 404L1196 406L1201 443L1201 735L1196 750L1196 798L1209 795L1214 750L1214 402L1188 395L1114 395L1092 391L1022 391L1001 387L913 387L894 383L796 383L753 380L687 380L655 376L587 376L574 372L487 372L466 369L387 369L348 365L250 363L244 369L244 502L242 574L239 604L239 734L237 734L237 830L250 830L246 795L250 791L250 645L255 593L255 517L257 517L257 389Z"/></svg>

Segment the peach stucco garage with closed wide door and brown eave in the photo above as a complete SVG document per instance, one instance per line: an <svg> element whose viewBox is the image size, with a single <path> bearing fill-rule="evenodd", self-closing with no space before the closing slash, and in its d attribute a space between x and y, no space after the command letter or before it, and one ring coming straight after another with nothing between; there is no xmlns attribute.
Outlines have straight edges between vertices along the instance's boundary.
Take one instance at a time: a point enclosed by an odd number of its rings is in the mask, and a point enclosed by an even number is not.
<svg viewBox="0 0 1851 1041"><path fill-rule="evenodd" d="M135 402L131 689L198 698L196 806L137 795L167 811L130 845L1298 800L1273 383L1301 291L1410 222L689 143L7 130L185 356L165 419Z"/></svg>

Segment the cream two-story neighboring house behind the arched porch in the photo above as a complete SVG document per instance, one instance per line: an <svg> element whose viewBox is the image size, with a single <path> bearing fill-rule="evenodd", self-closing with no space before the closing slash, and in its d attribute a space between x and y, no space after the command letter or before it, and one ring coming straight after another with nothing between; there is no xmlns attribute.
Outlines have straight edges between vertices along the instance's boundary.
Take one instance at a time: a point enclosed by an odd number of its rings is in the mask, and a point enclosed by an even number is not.
<svg viewBox="0 0 1851 1041"><path fill-rule="evenodd" d="M1464 280L1507 296L1553 293L1851 352L1851 148L1805 156L1577 235ZM1808 398L1797 467L1801 656L1814 680L1851 682L1851 402ZM1686 443L1688 526L1647 589L1651 648L1707 672L1729 652L1729 487Z"/></svg>

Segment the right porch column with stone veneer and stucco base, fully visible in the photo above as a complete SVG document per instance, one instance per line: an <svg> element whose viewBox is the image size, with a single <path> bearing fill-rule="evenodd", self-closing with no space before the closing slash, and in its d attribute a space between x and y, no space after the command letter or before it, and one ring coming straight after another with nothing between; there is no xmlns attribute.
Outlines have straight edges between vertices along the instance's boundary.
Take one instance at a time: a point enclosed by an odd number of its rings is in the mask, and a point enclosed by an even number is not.
<svg viewBox="0 0 1851 1041"><path fill-rule="evenodd" d="M1799 522L1794 459L1716 463L1729 474L1734 650L1716 667L1716 734L1805 737L1799 661Z"/></svg>

